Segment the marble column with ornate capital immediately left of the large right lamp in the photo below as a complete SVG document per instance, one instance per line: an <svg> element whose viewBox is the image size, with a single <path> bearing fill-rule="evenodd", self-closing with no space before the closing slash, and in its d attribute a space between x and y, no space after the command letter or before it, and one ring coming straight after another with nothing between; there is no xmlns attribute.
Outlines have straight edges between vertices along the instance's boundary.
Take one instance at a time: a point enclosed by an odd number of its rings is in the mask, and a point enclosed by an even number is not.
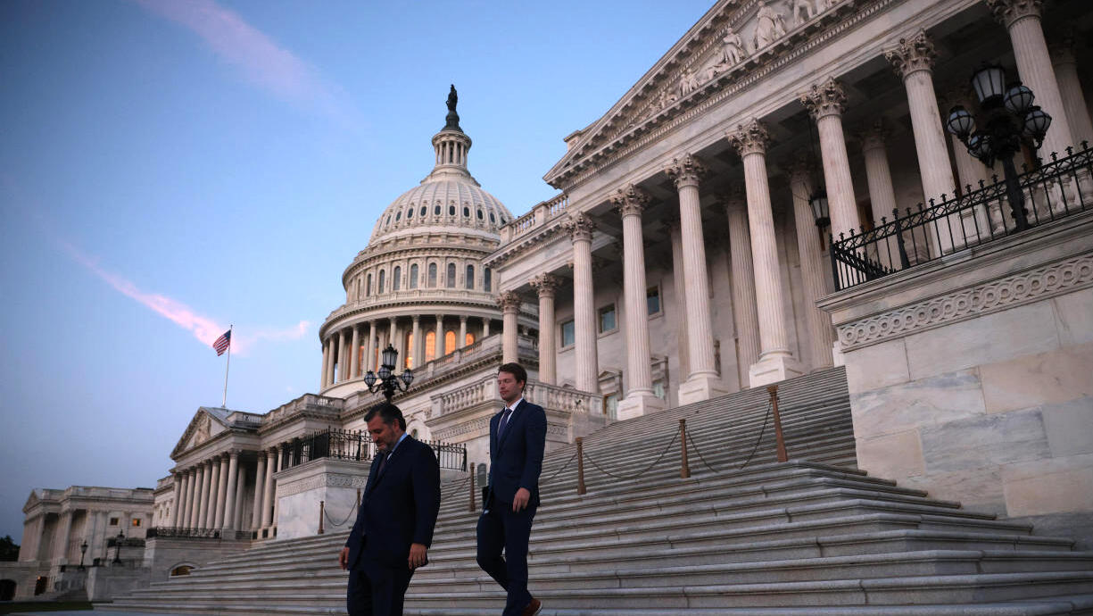
<svg viewBox="0 0 1093 616"><path fill-rule="evenodd" d="M927 204L940 204L944 198L956 194L944 128L938 112L938 96L933 91L932 67L936 56L933 42L921 30L914 36L901 38L896 47L884 51L884 57L892 62L896 74L903 78L907 90L910 127L915 133L918 172L922 179L922 198ZM959 220L960 217L947 217L938 221L938 233L931 234L939 243L935 256L952 251L953 240L960 235L959 228L953 226L960 224Z"/></svg>

